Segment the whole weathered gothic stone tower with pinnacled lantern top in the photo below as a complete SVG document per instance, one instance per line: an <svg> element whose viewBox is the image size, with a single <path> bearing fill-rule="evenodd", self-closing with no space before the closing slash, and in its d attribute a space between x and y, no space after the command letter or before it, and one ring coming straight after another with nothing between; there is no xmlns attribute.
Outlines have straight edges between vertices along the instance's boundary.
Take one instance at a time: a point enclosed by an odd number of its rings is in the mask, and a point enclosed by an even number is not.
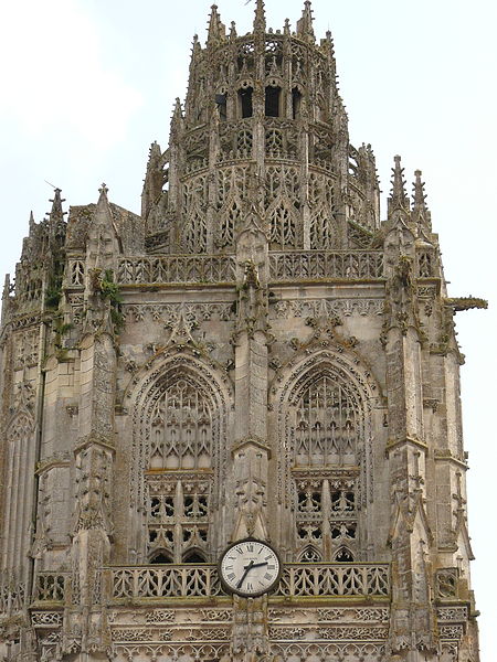
<svg viewBox="0 0 497 662"><path fill-rule="evenodd" d="M3 291L2 660L478 662L453 318L485 302L414 178L381 221L331 35L257 0L243 36L212 7L141 216L55 190Z"/></svg>

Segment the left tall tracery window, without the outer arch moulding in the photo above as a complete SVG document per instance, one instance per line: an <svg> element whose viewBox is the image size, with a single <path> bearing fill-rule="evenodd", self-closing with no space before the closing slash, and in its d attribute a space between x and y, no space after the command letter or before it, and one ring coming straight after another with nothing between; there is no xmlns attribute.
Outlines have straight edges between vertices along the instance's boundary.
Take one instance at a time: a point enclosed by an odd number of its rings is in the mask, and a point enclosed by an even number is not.
<svg viewBox="0 0 497 662"><path fill-rule="evenodd" d="M220 462L220 409L200 373L170 370L154 383L139 445L144 490L144 556L148 563L204 563L215 528L212 512ZM142 452L141 452L142 448ZM224 457L224 456L222 456ZM141 530L144 531L144 530ZM166 563L166 562L160 562Z"/></svg>

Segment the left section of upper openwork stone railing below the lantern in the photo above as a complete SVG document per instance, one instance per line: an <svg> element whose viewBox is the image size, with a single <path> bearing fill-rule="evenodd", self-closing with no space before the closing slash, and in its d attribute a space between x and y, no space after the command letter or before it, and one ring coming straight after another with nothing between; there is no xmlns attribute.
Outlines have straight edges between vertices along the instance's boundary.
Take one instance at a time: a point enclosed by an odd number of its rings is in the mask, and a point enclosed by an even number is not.
<svg viewBox="0 0 497 662"><path fill-rule="evenodd" d="M119 285L161 282L233 282L233 255L163 255L128 257L117 267Z"/></svg>

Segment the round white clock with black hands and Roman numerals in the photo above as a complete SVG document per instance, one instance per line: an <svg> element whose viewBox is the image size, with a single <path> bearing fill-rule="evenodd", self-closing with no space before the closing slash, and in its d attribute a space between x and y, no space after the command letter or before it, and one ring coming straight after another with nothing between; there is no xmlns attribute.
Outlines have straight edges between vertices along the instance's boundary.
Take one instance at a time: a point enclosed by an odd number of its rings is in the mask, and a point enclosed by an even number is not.
<svg viewBox="0 0 497 662"><path fill-rule="evenodd" d="M282 564L273 547L252 538L230 545L219 562L223 587L246 598L274 590L281 573Z"/></svg>

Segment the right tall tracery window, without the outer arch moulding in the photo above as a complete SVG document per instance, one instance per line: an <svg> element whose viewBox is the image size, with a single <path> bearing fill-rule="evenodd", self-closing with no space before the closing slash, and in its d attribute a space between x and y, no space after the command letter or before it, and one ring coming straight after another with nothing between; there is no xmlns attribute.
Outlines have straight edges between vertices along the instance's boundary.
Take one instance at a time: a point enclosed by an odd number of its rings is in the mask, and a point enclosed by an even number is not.
<svg viewBox="0 0 497 662"><path fill-rule="evenodd" d="M297 558L351 562L359 543L361 399L346 380L324 367L300 381L290 428Z"/></svg>

